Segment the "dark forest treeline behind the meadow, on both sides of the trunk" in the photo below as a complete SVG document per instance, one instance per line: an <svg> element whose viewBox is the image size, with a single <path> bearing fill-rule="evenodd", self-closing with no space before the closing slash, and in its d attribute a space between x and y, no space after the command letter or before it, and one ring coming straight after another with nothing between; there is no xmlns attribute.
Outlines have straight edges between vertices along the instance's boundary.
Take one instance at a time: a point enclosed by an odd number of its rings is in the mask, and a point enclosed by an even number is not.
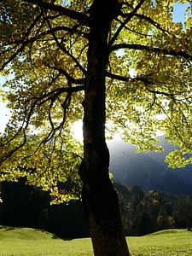
<svg viewBox="0 0 192 256"><path fill-rule="evenodd" d="M126 236L192 227L192 196L157 190L145 193L138 185L128 188L122 183L113 184L119 192ZM61 184L61 189L66 186ZM49 194L27 186L24 179L3 182L0 190L0 224L43 229L63 238L89 236L81 201L50 206Z"/></svg>

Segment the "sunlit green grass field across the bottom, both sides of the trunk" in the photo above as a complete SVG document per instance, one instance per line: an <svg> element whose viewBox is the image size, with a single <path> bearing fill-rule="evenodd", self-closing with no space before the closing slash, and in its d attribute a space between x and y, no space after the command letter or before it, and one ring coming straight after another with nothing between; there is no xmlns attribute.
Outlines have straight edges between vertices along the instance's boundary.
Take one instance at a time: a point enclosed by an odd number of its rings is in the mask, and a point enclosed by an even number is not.
<svg viewBox="0 0 192 256"><path fill-rule="evenodd" d="M131 256L192 256L192 232L163 230L127 237ZM61 240L44 230L0 226L1 256L93 256L90 238Z"/></svg>

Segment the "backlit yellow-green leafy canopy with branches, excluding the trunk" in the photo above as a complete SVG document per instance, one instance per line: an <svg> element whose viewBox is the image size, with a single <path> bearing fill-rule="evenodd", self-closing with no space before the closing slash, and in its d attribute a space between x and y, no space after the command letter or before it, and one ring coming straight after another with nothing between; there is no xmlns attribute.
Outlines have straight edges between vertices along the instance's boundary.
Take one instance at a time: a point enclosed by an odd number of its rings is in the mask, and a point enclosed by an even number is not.
<svg viewBox="0 0 192 256"><path fill-rule="evenodd" d="M167 157L172 167L192 161L192 18L188 9L185 25L174 23L174 3L188 1L119 1L106 70L109 133L120 132L140 152L162 150L154 136L166 132L181 148ZM0 71L13 76L1 91L12 110L0 138L1 179L26 176L55 198L58 181L79 183L70 127L84 114L92 9L90 0L0 3ZM77 197L74 190L58 201Z"/></svg>

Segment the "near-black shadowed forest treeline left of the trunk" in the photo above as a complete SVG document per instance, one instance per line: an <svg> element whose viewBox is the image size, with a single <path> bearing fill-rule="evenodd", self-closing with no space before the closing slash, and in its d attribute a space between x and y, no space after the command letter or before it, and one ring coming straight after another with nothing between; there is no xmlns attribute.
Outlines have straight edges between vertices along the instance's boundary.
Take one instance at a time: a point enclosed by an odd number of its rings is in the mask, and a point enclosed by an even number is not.
<svg viewBox="0 0 192 256"><path fill-rule="evenodd" d="M47 230L63 238L89 236L81 201L50 206L51 197L40 188L25 184L20 178L16 183L0 183L0 224ZM70 189L66 183L61 190Z"/></svg>

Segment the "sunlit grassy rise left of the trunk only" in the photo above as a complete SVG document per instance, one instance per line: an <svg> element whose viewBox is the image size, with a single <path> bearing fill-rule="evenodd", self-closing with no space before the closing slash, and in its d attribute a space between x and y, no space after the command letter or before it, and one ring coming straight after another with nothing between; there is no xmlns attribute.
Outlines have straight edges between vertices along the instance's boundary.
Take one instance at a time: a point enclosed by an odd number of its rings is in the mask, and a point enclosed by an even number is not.
<svg viewBox="0 0 192 256"><path fill-rule="evenodd" d="M64 241L44 230L0 225L0 256L90 256L90 238Z"/></svg>

